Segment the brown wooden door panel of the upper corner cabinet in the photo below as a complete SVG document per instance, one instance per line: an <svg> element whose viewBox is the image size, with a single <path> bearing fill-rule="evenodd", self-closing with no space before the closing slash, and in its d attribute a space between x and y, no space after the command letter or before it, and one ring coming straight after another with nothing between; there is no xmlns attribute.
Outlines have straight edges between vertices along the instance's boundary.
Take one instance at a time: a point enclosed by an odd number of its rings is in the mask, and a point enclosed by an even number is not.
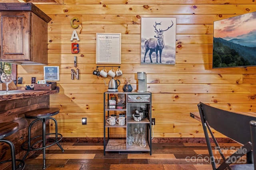
<svg viewBox="0 0 256 170"><path fill-rule="evenodd" d="M30 13L1 12L1 60L29 60Z"/></svg>

